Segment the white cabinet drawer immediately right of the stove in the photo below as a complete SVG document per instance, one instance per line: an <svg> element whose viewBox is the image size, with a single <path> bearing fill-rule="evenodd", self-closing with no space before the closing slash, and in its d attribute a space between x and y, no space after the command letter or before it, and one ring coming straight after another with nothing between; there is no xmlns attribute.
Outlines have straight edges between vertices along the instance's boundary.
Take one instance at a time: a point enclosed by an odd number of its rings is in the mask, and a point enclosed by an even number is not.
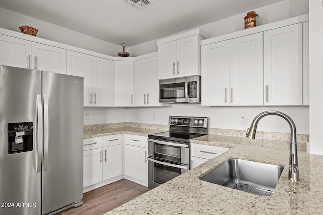
<svg viewBox="0 0 323 215"><path fill-rule="evenodd" d="M229 150L226 147L216 147L201 144L191 144L191 156L211 159Z"/></svg>

